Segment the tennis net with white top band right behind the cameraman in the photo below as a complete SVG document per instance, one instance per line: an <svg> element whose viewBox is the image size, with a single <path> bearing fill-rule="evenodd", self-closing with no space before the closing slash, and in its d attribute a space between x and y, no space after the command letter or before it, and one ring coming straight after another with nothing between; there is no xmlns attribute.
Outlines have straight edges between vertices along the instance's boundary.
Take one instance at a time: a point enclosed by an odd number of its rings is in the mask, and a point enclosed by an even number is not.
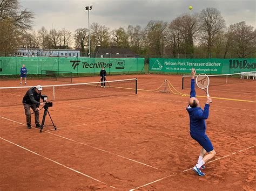
<svg viewBox="0 0 256 191"><path fill-rule="evenodd" d="M23 96L31 87L0 87L0 107L21 105ZM137 94L138 86L137 79L125 79L106 81L105 88L100 81L42 87L42 94L47 95L49 101L58 101Z"/></svg>

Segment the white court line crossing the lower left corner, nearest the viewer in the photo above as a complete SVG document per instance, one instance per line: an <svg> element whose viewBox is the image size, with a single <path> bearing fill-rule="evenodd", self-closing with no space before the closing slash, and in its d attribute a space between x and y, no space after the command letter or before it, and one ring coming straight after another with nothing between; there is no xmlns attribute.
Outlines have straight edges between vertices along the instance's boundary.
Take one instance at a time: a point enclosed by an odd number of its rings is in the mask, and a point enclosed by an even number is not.
<svg viewBox="0 0 256 191"><path fill-rule="evenodd" d="M77 170L75 170L75 169L73 169L73 168L70 168L70 167L68 167L68 166L66 166L66 165L63 165L63 164L61 164L61 163L59 163L59 162L57 162L57 161L55 161L55 160L52 160L52 159L50 159L50 158L48 158L48 157L43 156L43 155L41 155L41 154L38 154L38 153L36 153L36 152L33 152L33 151L29 150L28 148L25 148L25 147L23 147L23 146L21 146L21 145L12 143L12 142L10 142L9 140L6 140L6 139L4 139L4 138L2 138L2 137L0 137L0 139L4 140L5 142L8 142L8 143L10 143L10 144L13 144L13 145L15 145L15 146L18 146L18 147L20 147L20 148L23 148L24 150L29 151L29 152L31 152L31 153L33 153L33 154L36 154L36 155L38 155L39 157L43 157L43 158L46 159L46 160L50 160L50 161L56 163L57 165L60 165L60 166L65 167L65 168L68 168L68 169L70 169L70 170L73 171L73 172L76 172L76 173L78 173L78 174L82 174L82 175L86 176L87 178L90 178L90 179L92 179L92 180L96 180L97 182L103 183L103 184L106 185L106 186L109 186L109 187L111 187L111 188L116 189L115 187L113 187L113 186L111 186L111 185L107 185L107 184L106 184L105 182L103 182L103 181L100 181L100 180L98 180L98 179L96 179L96 178L93 178L92 176L89 176L89 175L87 175L87 174L84 174L84 173L82 173L82 172L79 172L79 171L77 171Z"/></svg>

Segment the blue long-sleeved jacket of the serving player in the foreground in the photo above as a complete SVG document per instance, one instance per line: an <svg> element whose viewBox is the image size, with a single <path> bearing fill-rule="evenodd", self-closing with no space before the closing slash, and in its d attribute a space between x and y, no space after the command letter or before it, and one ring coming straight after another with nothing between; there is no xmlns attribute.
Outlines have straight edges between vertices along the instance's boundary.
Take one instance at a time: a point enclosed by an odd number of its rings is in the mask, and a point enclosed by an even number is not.
<svg viewBox="0 0 256 191"><path fill-rule="evenodd" d="M194 89L194 79L191 79L190 97L196 97L196 90ZM187 112L190 115L190 133L193 135L205 134L206 124L205 119L209 116L209 104L205 104L204 110L200 107L191 108L188 105Z"/></svg>

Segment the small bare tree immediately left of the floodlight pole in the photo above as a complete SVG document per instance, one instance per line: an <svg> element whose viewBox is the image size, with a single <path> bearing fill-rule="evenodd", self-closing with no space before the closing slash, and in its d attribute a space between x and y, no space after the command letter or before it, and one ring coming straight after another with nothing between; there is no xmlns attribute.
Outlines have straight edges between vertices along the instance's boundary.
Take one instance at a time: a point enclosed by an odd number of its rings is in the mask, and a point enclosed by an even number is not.
<svg viewBox="0 0 256 191"><path fill-rule="evenodd" d="M81 55L85 54L85 44L87 41L87 32L88 30L86 28L80 28L75 31L74 39L75 39L75 48L79 49L81 52Z"/></svg>

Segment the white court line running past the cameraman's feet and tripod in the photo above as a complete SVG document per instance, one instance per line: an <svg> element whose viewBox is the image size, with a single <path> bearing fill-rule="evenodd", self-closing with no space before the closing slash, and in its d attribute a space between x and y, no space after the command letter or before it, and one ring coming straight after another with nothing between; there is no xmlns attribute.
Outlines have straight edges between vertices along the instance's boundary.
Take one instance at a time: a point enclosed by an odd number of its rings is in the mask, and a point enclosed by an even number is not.
<svg viewBox="0 0 256 191"><path fill-rule="evenodd" d="M16 122L16 121L14 121L14 120L11 120L11 119L8 119L8 118L2 117L2 116L0 116L0 118L6 119L6 120L8 120L8 121L15 122L15 123L18 123L18 124L25 125L25 124L23 124L23 123L19 123L19 122ZM26 125L25 125L25 126L26 126ZM38 128L34 128L33 126L31 126L31 128L38 130ZM63 136L59 136L59 135L57 135L57 134L55 134L55 133L51 133L51 132L49 132L49 131L45 131L45 130L42 130L42 131L44 131L44 132L46 132L46 133L49 133L49 134L51 134L51 135L53 135L53 136L56 136L56 137L60 137L60 138L66 139L66 140L70 140L71 142L75 142L75 143L78 143L78 144L81 144L81 145L89 146L89 147L91 147L91 148L95 148L96 150L103 151L103 152L106 152L106 153L109 153L109 154L112 154L112 155L116 155L117 157L120 157L120 158L123 158L123 159L127 159L127 160L136 162L136 163L138 163L138 164L141 164L141 165L144 165L144 166L147 166L147 167L151 167L151 168L154 168L154 169L158 169L157 167L153 167L153 166L147 165L147 164L145 164L145 163L143 163L143 162L139 162L139 161L137 161L137 160L133 160L133 159L124 157L124 156L122 156L122 155L115 154L115 153L112 153L112 152L103 150L103 149L101 149L101 148L97 148L97 147L95 147L95 146L91 146L91 145L88 145L88 144L85 144L85 143L77 142L76 140L73 140L73 139L70 139L70 138L66 138L66 137L63 137ZM158 170L160 171L160 169L158 169Z"/></svg>

